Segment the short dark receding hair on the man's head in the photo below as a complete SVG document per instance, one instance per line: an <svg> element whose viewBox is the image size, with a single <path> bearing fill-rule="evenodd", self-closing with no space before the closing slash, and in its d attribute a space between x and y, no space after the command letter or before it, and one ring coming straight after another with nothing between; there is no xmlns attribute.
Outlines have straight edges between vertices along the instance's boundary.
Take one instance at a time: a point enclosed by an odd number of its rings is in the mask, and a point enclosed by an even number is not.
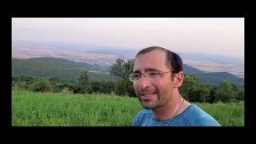
<svg viewBox="0 0 256 144"><path fill-rule="evenodd" d="M165 48L159 46L150 46L143 50L140 50L138 54L136 54L135 59L140 54L146 54L153 50L162 50L166 52L166 66L172 70L172 73L178 73L182 71L182 58L178 56L178 54L174 53L173 51L167 50Z"/></svg>

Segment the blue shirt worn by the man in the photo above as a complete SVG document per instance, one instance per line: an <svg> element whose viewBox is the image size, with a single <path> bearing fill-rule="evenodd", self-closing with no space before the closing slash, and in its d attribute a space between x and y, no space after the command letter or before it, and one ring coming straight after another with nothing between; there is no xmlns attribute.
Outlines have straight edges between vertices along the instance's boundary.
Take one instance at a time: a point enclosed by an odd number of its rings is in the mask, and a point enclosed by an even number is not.
<svg viewBox="0 0 256 144"><path fill-rule="evenodd" d="M141 110L136 114L132 126L166 126L170 118L154 119L151 110ZM221 126L210 114L195 104L191 104L178 114L168 126Z"/></svg>

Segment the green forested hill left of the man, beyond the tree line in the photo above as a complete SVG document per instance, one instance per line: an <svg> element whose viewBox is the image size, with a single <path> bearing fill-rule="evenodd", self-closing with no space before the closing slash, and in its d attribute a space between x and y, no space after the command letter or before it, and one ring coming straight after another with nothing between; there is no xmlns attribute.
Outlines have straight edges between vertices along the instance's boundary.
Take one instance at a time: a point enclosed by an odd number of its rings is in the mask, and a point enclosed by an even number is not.
<svg viewBox="0 0 256 144"><path fill-rule="evenodd" d="M64 61L62 61L64 62ZM65 80L77 80L83 70L82 67L68 66L68 64L38 62L31 59L12 58L12 76L24 75L35 77L58 77ZM86 69L94 70L94 69ZM93 81L117 81L118 77L110 74L96 74L89 72Z"/></svg>

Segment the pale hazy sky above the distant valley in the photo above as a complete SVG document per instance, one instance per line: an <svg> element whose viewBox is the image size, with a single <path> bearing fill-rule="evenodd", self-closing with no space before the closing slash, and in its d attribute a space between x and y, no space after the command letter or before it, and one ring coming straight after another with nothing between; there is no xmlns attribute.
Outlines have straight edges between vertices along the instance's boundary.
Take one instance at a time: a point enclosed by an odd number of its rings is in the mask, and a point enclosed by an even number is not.
<svg viewBox="0 0 256 144"><path fill-rule="evenodd" d="M13 40L244 57L244 18L12 18Z"/></svg>

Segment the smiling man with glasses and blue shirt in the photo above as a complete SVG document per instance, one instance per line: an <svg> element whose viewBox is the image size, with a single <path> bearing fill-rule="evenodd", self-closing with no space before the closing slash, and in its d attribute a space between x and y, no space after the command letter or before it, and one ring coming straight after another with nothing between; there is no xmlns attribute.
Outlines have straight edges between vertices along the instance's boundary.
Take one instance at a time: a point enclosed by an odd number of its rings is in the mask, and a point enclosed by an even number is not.
<svg viewBox="0 0 256 144"><path fill-rule="evenodd" d="M184 74L182 59L162 47L138 52L130 81L145 108L134 118L133 126L220 126L210 114L190 104L179 93Z"/></svg>

